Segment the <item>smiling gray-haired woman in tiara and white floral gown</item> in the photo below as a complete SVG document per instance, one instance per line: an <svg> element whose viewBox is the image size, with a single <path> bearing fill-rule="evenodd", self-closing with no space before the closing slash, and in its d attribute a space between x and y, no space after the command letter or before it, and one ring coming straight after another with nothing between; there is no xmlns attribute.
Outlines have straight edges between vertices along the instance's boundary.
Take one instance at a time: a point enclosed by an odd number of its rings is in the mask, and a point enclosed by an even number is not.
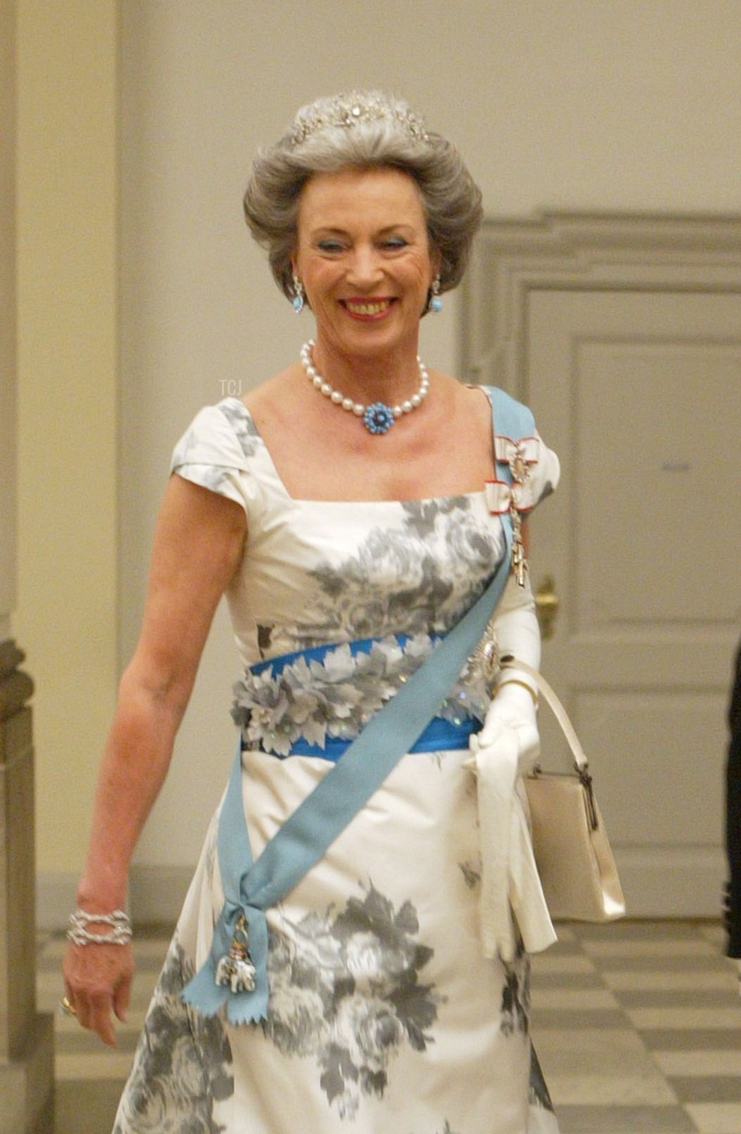
<svg viewBox="0 0 741 1134"><path fill-rule="evenodd" d="M298 112L245 212L315 333L176 446L65 1002L113 1042L128 863L226 593L237 754L116 1134L551 1134L528 954L553 933L517 836L536 703L496 658L539 661L522 518L558 464L524 407L418 356L480 193L406 103L354 92Z"/></svg>

